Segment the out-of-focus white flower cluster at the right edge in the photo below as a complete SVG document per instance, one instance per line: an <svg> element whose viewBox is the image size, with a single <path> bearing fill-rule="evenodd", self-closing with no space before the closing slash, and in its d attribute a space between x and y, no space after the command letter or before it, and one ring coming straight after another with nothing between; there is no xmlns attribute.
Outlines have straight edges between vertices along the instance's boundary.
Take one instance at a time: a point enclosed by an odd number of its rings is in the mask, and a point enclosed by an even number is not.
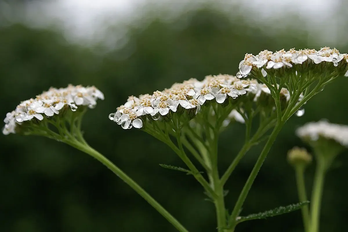
<svg viewBox="0 0 348 232"><path fill-rule="evenodd" d="M317 141L319 137L332 139L342 146L348 147L348 126L333 124L325 120L309 122L296 130L302 139Z"/></svg>

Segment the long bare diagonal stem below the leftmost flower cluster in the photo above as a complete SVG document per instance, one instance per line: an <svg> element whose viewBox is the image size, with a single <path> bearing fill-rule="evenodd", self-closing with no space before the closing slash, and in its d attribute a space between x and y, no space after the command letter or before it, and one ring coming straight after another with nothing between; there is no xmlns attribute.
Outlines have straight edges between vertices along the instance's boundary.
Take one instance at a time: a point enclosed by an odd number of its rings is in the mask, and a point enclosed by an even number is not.
<svg viewBox="0 0 348 232"><path fill-rule="evenodd" d="M121 169L114 165L110 160L104 157L101 153L94 150L92 147L82 144L78 141L64 141L65 143L75 147L76 149L89 154L103 165L108 167L114 174L120 177L126 182L132 189L134 189L139 195L141 195L153 208L155 208L162 216L164 216L178 231L188 232L183 225L180 224L168 211L163 208L155 199L153 199L142 187L140 187L133 179L127 176Z"/></svg>

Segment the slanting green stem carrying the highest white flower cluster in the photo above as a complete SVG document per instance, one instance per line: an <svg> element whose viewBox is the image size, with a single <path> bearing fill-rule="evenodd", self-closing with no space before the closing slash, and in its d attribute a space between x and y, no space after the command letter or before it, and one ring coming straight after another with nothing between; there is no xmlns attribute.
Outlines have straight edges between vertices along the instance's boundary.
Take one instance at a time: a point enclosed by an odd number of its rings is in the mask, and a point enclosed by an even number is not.
<svg viewBox="0 0 348 232"><path fill-rule="evenodd" d="M253 170L251 171L242 192L239 194L238 200L236 202L236 205L232 211L232 214L229 218L229 225L232 228L232 231L234 230L234 228L236 227L236 218L240 212L240 209L243 206L243 203L251 189L252 184L254 183L254 180L256 178L256 176L258 175L261 166L263 164L263 161L266 159L266 156L272 146L272 144L274 143L274 141L276 140L276 137L280 131L280 129L282 129L284 123L282 121L278 122L277 125L275 126L275 128L273 129L270 137L268 138L268 141L266 143L266 145L263 147L263 150L258 158L258 160L256 161L256 164L253 168Z"/></svg>

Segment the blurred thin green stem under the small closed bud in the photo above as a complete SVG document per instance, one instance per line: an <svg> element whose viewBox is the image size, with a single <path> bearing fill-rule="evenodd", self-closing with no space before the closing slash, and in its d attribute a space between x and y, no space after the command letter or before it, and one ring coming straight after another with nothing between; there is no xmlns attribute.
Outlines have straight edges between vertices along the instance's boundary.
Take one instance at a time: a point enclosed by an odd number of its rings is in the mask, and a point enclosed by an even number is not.
<svg viewBox="0 0 348 232"><path fill-rule="evenodd" d="M304 166L295 166L296 185L300 202L307 201L306 185L304 184ZM304 231L309 232L309 209L308 205L301 208Z"/></svg>

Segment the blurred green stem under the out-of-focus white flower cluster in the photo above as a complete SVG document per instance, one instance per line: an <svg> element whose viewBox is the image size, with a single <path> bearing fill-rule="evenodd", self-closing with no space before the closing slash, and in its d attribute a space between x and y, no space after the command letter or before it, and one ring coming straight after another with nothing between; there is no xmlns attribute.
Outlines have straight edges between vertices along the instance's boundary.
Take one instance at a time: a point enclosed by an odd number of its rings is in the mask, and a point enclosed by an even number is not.
<svg viewBox="0 0 348 232"><path fill-rule="evenodd" d="M325 162L323 159L319 159L315 171L312 190L310 232L319 231L320 207L323 195L325 172Z"/></svg>

